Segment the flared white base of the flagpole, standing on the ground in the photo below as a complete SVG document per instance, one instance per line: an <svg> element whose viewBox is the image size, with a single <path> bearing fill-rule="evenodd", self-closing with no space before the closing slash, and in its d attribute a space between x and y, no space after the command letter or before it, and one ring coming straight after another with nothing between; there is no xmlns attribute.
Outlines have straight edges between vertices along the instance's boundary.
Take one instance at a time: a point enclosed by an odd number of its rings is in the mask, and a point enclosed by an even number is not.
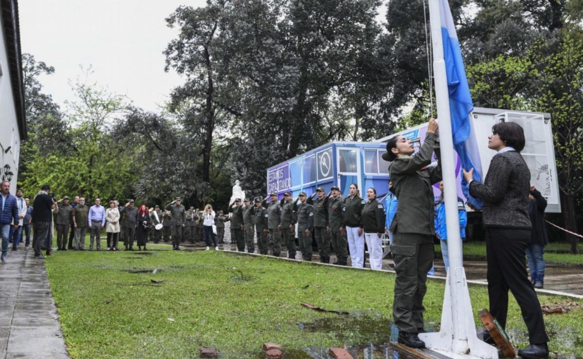
<svg viewBox="0 0 583 359"><path fill-rule="evenodd" d="M450 288L451 272L455 271L456 298L452 298ZM452 320L452 310L458 312L457 317L461 322ZM496 347L482 342L476 334L476 326L473 321L472 303L466 282L466 274L461 268L449 268L445 280L445 294L443 310L441 312L441 328L437 333L420 333L419 339L425 342L428 349L437 351L452 358L498 358Z"/></svg>

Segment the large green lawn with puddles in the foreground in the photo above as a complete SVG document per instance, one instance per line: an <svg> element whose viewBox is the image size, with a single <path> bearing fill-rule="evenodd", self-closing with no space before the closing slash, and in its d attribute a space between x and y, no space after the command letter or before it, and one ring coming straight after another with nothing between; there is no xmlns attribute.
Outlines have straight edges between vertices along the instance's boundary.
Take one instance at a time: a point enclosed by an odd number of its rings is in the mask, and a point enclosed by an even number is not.
<svg viewBox="0 0 583 359"><path fill-rule="evenodd" d="M67 251L45 262L73 358L198 357L201 346L217 347L226 358L261 358L265 342L301 357L311 346L390 340L389 273L222 251ZM443 292L444 282L429 281L429 328L438 329ZM485 287L472 286L470 294L475 312L488 306ZM539 298L543 304L565 300ZM354 315L317 312L302 302ZM552 351L583 357L583 308L545 321ZM525 346L526 327L513 298L507 329L514 344Z"/></svg>

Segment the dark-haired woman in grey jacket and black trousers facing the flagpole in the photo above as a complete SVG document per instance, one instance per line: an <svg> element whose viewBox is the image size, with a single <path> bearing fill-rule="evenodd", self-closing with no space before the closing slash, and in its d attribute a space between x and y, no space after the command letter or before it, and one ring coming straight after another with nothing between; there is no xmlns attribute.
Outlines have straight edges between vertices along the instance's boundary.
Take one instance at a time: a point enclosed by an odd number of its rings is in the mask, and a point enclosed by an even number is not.
<svg viewBox="0 0 583 359"><path fill-rule="evenodd" d="M521 309L531 343L519 350L518 355L546 358L549 356L549 337L524 260L532 228L526 210L531 172L520 154L524 145L521 126L513 122L497 123L488 137L488 147L498 153L490 162L484 183L472 179L473 169L464 170L463 176L469 183L470 194L484 201L482 219L486 227L490 312L505 328L510 289Z"/></svg>

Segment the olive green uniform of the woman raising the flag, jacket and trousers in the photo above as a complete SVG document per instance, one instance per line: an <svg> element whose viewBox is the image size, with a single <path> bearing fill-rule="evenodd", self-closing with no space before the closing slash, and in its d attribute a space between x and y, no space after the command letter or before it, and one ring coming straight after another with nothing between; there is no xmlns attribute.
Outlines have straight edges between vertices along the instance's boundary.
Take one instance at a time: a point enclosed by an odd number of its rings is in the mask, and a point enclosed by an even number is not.
<svg viewBox="0 0 583 359"><path fill-rule="evenodd" d="M427 272L433 265L434 202L431 184L441 180L441 165L431 163L436 135L427 133L416 155L395 159L389 165L393 191L399 198L391 254L395 261L393 317L403 332L423 328L423 297L427 292ZM438 154L438 152L437 152Z"/></svg>

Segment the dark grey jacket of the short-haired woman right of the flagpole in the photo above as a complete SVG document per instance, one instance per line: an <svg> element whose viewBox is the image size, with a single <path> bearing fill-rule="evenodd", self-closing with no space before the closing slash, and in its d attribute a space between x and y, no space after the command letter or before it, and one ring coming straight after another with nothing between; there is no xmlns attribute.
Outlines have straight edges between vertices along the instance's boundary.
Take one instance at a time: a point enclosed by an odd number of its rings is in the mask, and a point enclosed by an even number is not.
<svg viewBox="0 0 583 359"><path fill-rule="evenodd" d="M482 219L490 227L530 229L526 211L530 190L531 171L517 151L495 155L483 184L470 182L470 194L484 200Z"/></svg>

